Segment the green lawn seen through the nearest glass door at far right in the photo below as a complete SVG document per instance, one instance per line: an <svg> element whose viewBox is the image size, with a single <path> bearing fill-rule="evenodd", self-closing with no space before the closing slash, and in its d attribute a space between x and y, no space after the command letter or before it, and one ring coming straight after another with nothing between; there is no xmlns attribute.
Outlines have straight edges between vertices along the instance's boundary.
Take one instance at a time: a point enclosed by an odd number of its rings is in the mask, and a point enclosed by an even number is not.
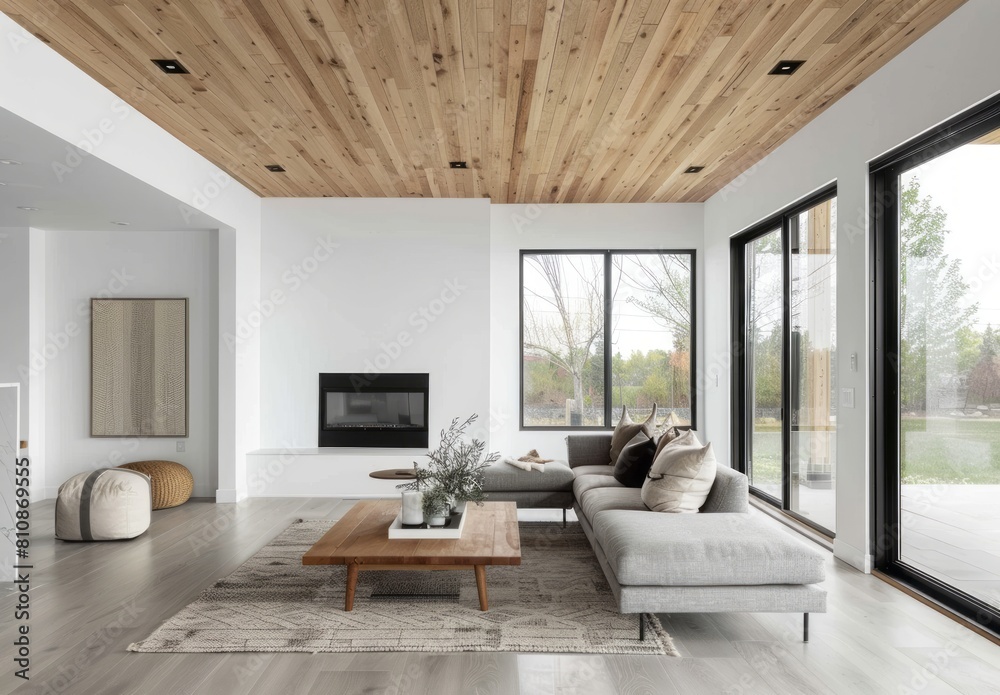
<svg viewBox="0 0 1000 695"><path fill-rule="evenodd" d="M903 483L1000 485L1000 420L902 419Z"/></svg>

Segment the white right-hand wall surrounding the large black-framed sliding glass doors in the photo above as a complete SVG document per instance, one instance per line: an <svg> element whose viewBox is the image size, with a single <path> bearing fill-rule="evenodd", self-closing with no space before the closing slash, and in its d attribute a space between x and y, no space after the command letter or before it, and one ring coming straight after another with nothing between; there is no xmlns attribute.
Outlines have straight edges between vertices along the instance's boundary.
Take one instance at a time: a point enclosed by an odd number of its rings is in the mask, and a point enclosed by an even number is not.
<svg viewBox="0 0 1000 695"><path fill-rule="evenodd" d="M859 569L870 564L868 162L1000 91L998 26L1000 3L970 0L706 204L707 427L728 443L729 237L837 181L837 383L858 405L838 412L835 552Z"/></svg>

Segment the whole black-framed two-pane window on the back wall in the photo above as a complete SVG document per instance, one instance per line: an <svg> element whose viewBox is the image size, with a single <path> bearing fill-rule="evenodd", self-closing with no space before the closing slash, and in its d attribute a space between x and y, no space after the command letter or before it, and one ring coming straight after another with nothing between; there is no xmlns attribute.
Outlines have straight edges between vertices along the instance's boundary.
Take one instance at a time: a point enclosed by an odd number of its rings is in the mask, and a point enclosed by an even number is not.
<svg viewBox="0 0 1000 695"><path fill-rule="evenodd" d="M521 429L695 423L695 252L521 251Z"/></svg>

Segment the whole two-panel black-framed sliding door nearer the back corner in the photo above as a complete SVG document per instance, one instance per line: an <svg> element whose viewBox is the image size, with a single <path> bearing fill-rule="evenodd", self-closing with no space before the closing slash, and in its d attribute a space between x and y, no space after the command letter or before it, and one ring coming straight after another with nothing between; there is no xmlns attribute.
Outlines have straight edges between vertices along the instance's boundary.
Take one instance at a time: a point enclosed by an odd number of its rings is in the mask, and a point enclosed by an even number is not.
<svg viewBox="0 0 1000 695"><path fill-rule="evenodd" d="M737 235L733 460L751 492L836 531L837 189Z"/></svg>

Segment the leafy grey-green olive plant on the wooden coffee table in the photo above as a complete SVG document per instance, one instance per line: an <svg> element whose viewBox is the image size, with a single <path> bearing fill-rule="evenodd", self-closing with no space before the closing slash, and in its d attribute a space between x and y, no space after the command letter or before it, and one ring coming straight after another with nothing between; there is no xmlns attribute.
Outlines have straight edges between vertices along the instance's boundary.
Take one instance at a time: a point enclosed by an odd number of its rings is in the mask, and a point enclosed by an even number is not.
<svg viewBox="0 0 1000 695"><path fill-rule="evenodd" d="M414 464L416 479L400 485L409 490L439 488L449 498L454 511L464 511L466 502L481 504L486 499L483 492L483 475L489 466L500 460L499 452L486 453L486 443L476 438L467 439L466 430L479 418L473 413L464 422L451 421L448 429L441 430L441 443L427 452L430 459L426 468Z"/></svg>

